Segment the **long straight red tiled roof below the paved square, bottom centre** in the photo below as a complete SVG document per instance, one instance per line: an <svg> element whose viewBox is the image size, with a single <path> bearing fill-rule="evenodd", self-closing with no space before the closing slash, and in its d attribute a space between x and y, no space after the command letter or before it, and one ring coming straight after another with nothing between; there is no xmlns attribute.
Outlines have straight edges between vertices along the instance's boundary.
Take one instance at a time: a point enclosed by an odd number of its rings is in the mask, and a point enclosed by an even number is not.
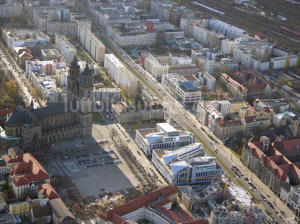
<svg viewBox="0 0 300 224"><path fill-rule="evenodd" d="M145 207L147 205L147 202L157 199L158 196L168 197L175 193L177 193L177 189L173 185L168 185L164 188L153 191L152 193L146 194L130 202L127 202L124 205L120 205L111 210L102 212L100 214L100 218L103 219L104 221L108 221L111 219L113 213L119 216L123 216L132 211L136 211L139 208Z"/></svg>

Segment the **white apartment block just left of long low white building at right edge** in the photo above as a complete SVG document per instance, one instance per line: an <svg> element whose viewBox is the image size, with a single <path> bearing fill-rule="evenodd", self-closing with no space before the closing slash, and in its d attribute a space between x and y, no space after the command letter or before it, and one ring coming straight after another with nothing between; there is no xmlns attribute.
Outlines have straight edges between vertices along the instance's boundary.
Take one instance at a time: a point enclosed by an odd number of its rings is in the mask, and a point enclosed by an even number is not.
<svg viewBox="0 0 300 224"><path fill-rule="evenodd" d="M271 59L272 60L272 59ZM243 52L241 63L248 68L257 71L267 71L269 69L270 62L268 60L261 60L255 55L247 52Z"/></svg>

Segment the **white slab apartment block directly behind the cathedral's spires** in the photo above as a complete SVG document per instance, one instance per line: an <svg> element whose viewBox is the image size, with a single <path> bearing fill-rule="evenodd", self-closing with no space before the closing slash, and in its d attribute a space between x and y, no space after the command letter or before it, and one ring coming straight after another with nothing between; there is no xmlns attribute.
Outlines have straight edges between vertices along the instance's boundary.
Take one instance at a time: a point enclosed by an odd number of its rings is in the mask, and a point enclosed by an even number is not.
<svg viewBox="0 0 300 224"><path fill-rule="evenodd" d="M56 34L55 47L58 49L58 51L61 52L64 59L68 63L71 63L73 61L76 54L76 48L70 43L67 37Z"/></svg>

